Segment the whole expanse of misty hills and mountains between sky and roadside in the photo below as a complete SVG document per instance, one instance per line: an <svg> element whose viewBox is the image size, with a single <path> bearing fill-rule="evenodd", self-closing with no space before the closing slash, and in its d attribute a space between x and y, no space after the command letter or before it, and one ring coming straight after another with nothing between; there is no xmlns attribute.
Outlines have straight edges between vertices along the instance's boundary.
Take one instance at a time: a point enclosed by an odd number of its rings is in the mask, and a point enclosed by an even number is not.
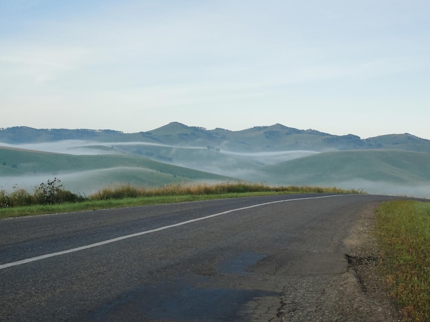
<svg viewBox="0 0 430 322"><path fill-rule="evenodd" d="M430 197L429 152L430 141L411 134L363 140L284 125L231 132L170 123L139 134L18 127L0 130L0 190L53 177L84 195L113 184L244 180Z"/></svg>

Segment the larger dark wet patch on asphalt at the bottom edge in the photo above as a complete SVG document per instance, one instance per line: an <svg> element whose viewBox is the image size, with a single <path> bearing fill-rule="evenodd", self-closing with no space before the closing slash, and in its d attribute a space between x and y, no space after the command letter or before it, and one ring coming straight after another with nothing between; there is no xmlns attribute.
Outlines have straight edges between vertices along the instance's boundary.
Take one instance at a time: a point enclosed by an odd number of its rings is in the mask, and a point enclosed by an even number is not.
<svg viewBox="0 0 430 322"><path fill-rule="evenodd" d="M115 299L91 321L249 321L244 306L255 298L279 296L264 290L208 288L199 284L213 277L187 276L143 286Z"/></svg>

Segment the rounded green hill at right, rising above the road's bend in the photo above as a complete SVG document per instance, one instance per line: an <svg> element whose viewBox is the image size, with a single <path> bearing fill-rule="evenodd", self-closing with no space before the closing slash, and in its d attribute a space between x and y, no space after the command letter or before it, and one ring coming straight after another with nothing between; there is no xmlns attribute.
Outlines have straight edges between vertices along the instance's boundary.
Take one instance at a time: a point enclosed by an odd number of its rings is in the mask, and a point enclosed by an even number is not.
<svg viewBox="0 0 430 322"><path fill-rule="evenodd" d="M355 181L430 186L430 154L394 150L326 152L266 166L260 175L273 184L332 186Z"/></svg>

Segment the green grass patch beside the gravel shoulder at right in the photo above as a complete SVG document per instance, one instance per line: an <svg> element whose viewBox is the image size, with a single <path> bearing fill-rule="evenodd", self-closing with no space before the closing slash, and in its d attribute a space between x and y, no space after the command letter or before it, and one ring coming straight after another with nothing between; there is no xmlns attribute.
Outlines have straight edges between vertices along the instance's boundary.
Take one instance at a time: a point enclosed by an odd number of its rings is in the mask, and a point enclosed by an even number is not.
<svg viewBox="0 0 430 322"><path fill-rule="evenodd" d="M376 211L383 274L407 321L430 321L430 203L389 201Z"/></svg>

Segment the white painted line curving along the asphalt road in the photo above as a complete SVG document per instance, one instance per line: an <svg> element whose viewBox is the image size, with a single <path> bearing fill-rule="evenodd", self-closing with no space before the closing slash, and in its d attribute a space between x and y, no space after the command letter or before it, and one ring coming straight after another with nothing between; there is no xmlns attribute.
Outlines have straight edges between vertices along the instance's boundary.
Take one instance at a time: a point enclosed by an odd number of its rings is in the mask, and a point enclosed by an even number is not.
<svg viewBox="0 0 430 322"><path fill-rule="evenodd" d="M231 209L231 210L227 210L227 211L223 211L223 212L218 212L217 214L210 214L209 216L204 216L204 217L200 217L200 218L196 218L196 219L190 219L188 221L181 221L181 223L174 223L173 225L167 225L167 226L155 228L153 230L145 230L144 232L137 232L135 234L130 234L130 235L126 235L126 236L121 236L121 237L117 237L117 238L103 240L103 241L101 241L99 243L93 243L93 244L89 244L89 245L85 245L85 246L81 246L81 247L66 249L65 251L57 251L56 253L47 253L45 255L36 256L36 257L32 257L32 258L26 258L25 260L18 260L16 262L10 262L10 263L7 263L7 264L1 264L0 265L0 269L7 269L8 267L14 267L14 266L26 264L26 263L29 263L29 262L36 262L36 260L44 260L45 258L50 258L50 257L54 257L54 256L60 256L60 255L63 255L65 253L74 253L75 251L82 251L84 249L99 247L99 246L102 246L102 245L106 245L106 244L110 244L110 243L115 243L115 242L120 241L120 240L124 240L124 239L128 239L128 238L133 238L133 237L137 237L137 236L142 236L142 235L145 235L145 234L151 234L152 232L159 232L161 230L168 230L169 228L178 227L178 226L181 226L181 225L187 225L188 223L194 223L196 221L202 221L202 220L205 220L205 219L214 218L216 216L222 216L223 214L229 214L231 212L236 212L236 211L240 211L240 210L246 210L246 209L256 208L256 207L260 207L260 206L267 206L267 205L270 205L272 203L280 203L280 202L287 202L287 201L298 201L298 200L308 200L308 199L321 199L321 198L330 198L330 197L341 197L341 196L346 196L346 195L328 195L328 196L321 196L321 197L307 197L307 198L284 199L284 200L278 200L278 201L270 201L270 202L265 202L265 203L258 203L256 205L242 207L242 208L236 208L236 209Z"/></svg>

